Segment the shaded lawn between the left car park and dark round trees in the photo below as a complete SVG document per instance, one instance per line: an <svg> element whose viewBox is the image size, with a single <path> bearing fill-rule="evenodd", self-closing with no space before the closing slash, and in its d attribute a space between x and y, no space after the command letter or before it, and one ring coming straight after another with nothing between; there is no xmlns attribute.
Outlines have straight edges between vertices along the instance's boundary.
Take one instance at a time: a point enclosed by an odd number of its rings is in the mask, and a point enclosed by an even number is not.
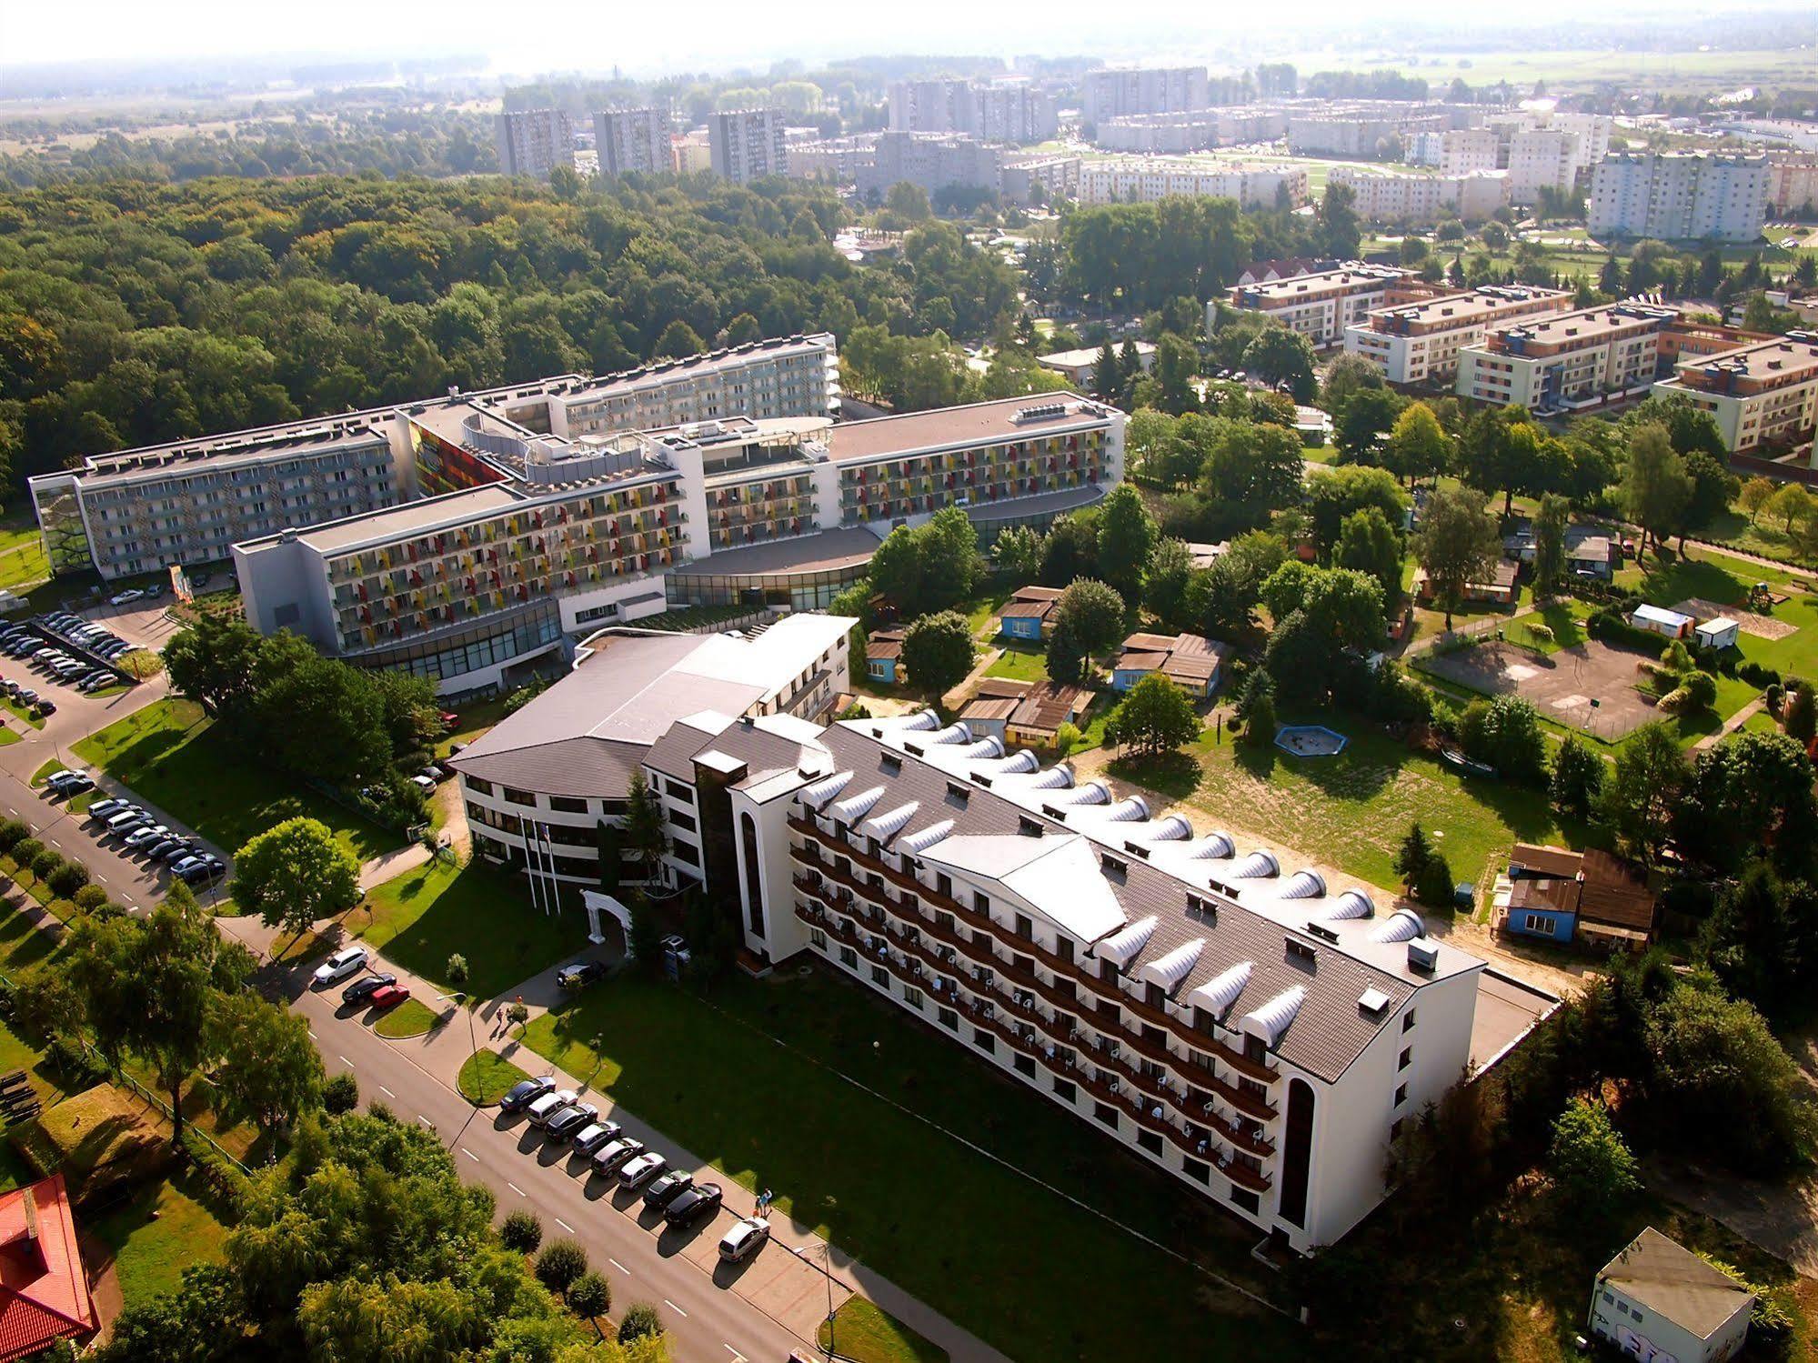
<svg viewBox="0 0 1818 1363"><path fill-rule="evenodd" d="M73 751L227 852L298 816L322 820L362 861L398 845L396 834L355 811L249 761L244 749L187 700L153 701L84 738Z"/></svg>

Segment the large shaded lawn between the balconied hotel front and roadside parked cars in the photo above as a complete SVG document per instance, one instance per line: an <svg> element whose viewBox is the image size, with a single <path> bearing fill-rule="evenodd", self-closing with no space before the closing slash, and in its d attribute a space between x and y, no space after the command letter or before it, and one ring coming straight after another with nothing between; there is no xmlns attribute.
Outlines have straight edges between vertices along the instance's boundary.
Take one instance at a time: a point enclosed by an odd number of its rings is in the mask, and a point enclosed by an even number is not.
<svg viewBox="0 0 1818 1363"><path fill-rule="evenodd" d="M584 1038L605 1038L602 1054ZM1182 1341L1194 1358L1307 1356L1300 1327L1118 1227L1269 1292L1254 1232L858 985L734 978L702 1000L622 976L525 1040L1013 1358L1174 1358ZM1085 1301L1140 1308L1065 1305Z"/></svg>

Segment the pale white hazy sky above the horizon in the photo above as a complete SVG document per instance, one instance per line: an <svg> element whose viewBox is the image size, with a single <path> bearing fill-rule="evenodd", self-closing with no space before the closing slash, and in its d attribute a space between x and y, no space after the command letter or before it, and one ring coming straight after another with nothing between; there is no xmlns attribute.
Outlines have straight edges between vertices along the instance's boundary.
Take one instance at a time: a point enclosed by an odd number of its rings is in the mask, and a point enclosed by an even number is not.
<svg viewBox="0 0 1818 1363"><path fill-rule="evenodd" d="M1809 0L1749 0L1751 9L1798 9ZM1616 0L1631 11L1707 16L1705 0ZM1233 40L1280 38L1293 47L1340 42L1376 20L1438 22L1469 16L1456 0L1294 0L1282 11L1240 0L916 0L814 4L809 0L0 0L0 67L71 60L158 60L255 53L485 53L507 75L544 71L627 73L762 67L774 56L805 60L862 53L1089 53L1105 58L1171 56L1218 65ZM1578 0L1523 0L1496 22L1547 24L1582 16ZM1596 11L1611 16L1611 5ZM685 22L678 22L685 15ZM1469 18L1465 18L1469 22ZM1114 27L1107 33L1107 27ZM4 95L4 91L0 91Z"/></svg>

